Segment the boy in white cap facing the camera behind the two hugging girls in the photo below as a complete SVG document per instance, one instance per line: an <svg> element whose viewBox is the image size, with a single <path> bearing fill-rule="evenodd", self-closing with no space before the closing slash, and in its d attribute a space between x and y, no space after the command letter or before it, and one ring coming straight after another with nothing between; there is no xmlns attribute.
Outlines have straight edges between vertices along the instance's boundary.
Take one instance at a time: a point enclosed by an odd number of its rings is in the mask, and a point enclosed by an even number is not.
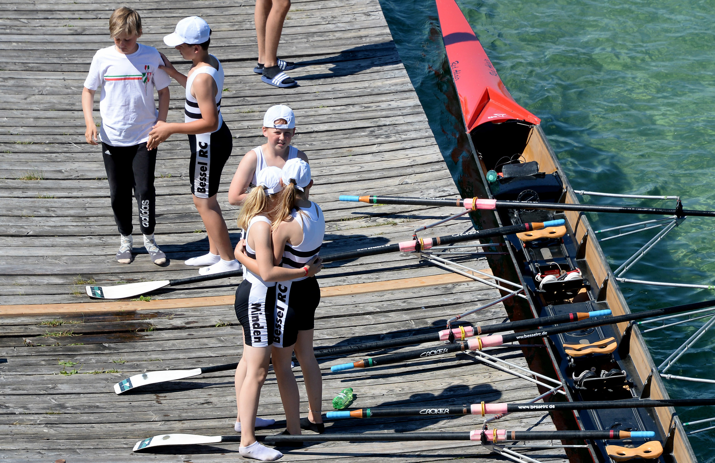
<svg viewBox="0 0 715 463"><path fill-rule="evenodd" d="M243 156L228 189L228 201L235 206L245 199L249 186L256 184L262 169L268 166L282 169L288 159L308 161L304 152L290 146L295 135L295 114L285 104L271 106L266 111L262 131L267 143L256 146Z"/></svg>

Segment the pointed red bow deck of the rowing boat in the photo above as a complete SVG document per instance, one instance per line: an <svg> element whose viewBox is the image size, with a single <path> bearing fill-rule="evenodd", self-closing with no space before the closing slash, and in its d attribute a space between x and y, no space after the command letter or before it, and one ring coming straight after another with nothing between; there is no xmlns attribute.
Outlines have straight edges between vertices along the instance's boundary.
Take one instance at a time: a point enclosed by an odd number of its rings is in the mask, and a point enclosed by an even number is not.
<svg viewBox="0 0 715 463"><path fill-rule="evenodd" d="M539 124L511 97L455 1L437 0L437 11L467 133L485 122Z"/></svg>

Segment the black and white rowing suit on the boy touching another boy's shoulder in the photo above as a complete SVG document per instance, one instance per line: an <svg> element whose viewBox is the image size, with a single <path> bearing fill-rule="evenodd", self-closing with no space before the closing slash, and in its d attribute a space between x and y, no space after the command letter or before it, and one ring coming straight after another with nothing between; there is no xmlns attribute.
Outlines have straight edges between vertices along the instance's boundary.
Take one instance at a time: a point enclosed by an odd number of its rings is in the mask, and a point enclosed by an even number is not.
<svg viewBox="0 0 715 463"><path fill-rule="evenodd" d="M216 56L209 55L213 59ZM191 146L191 164L189 164L189 179L191 192L199 198L210 198L219 191L221 172L231 156L233 137L221 114L221 92L224 83L224 71L216 59L218 69L214 66L201 66L192 72L186 81L186 101L184 103L184 121L193 122L203 119L198 101L191 94L191 86L199 74L209 74L216 82L218 89L215 97L216 109L219 114L219 128L207 134L189 135Z"/></svg>

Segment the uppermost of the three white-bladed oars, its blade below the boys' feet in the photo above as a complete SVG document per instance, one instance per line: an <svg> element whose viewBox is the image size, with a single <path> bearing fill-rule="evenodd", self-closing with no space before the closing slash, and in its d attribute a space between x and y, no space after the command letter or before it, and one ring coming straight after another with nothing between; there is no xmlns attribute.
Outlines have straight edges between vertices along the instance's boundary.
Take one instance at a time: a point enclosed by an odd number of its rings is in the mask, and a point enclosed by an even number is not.
<svg viewBox="0 0 715 463"><path fill-rule="evenodd" d="M473 239L499 237L504 234L522 233L523 231L540 230L548 226L563 225L563 219L552 220L546 222L533 222L526 224L501 226L495 229L472 230L466 233L448 235L446 237L420 238L401 243L383 244L382 246L373 246L363 249L355 249L354 251L337 252L322 256L323 262L335 262L347 259L357 259L358 257L375 256L378 254L387 254L388 252L416 252L430 249L431 247L439 246L440 244L452 244L470 241ZM232 272L223 272L213 275L201 275L199 277L189 277L173 280L159 280L156 282L139 282L121 284L117 286L87 286L87 295L95 299L124 299L127 297L139 296L147 292L152 292L156 289L167 286L178 286L180 284L208 282L209 280L222 279L228 277L238 277L242 274L241 270Z"/></svg>

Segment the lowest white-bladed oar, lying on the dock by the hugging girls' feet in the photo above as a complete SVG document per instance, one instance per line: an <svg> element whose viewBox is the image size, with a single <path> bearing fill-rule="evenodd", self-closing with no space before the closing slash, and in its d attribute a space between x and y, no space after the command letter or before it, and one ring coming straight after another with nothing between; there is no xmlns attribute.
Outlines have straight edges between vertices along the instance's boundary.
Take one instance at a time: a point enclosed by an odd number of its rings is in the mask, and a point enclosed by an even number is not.
<svg viewBox="0 0 715 463"><path fill-rule="evenodd" d="M408 441L474 441L488 442L521 440L572 439L638 439L654 437L653 431L507 431L506 429L475 429L471 432L365 432L362 434L277 434L256 436L258 442L408 442ZM134 445L134 452L167 445L218 444L241 442L240 435L199 436L196 434L159 434Z"/></svg>

